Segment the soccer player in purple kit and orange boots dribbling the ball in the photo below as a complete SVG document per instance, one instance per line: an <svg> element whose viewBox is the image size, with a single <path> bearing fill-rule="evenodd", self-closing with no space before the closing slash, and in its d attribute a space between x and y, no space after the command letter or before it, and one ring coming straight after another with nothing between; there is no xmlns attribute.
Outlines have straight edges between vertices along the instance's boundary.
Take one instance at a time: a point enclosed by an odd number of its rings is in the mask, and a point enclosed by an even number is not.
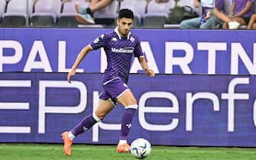
<svg viewBox="0 0 256 160"><path fill-rule="evenodd" d="M91 51L103 47L107 56L107 69L103 74L103 91L99 94L99 105L96 111L85 117L72 130L62 133L64 151L66 155L71 155L73 139L79 134L89 130L95 123L104 119L117 103L125 107L125 114L122 117L121 136L119 137L117 152L130 152L127 142L128 133L131 129L131 120L138 103L129 89L128 75L131 68L131 59L134 55L138 58L142 69L150 77L154 77L154 72L147 66L144 53L141 50L140 40L131 34L133 12L129 9L122 9L118 13L117 27L108 34L102 34L88 46L85 46L76 57L71 71L67 75L67 81L76 74L76 69L84 57Z"/></svg>

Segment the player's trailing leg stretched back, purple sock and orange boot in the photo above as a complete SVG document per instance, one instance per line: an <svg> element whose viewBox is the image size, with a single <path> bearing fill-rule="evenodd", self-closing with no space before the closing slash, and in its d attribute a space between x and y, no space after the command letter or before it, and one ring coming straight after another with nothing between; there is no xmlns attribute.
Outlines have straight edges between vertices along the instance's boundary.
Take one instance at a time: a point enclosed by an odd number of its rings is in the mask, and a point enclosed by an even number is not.
<svg viewBox="0 0 256 160"><path fill-rule="evenodd" d="M95 123L104 119L105 115L109 114L114 105L109 100L99 100L99 106L96 111L89 116L85 117L78 123L72 130L62 133L62 139L64 142L64 152L66 155L71 155L71 146L73 139L81 133L89 130Z"/></svg>

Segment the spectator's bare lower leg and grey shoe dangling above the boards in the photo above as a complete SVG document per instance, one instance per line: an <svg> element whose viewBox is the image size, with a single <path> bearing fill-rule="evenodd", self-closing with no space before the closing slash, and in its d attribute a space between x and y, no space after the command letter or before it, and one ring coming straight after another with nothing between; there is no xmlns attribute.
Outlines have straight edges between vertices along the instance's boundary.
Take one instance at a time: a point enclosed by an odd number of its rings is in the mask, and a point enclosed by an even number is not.
<svg viewBox="0 0 256 160"><path fill-rule="evenodd" d="M93 19L93 13L99 11L102 8L107 7L113 0L85 0L89 2L88 8L83 8L79 3L76 3L76 21L81 24L95 24Z"/></svg>

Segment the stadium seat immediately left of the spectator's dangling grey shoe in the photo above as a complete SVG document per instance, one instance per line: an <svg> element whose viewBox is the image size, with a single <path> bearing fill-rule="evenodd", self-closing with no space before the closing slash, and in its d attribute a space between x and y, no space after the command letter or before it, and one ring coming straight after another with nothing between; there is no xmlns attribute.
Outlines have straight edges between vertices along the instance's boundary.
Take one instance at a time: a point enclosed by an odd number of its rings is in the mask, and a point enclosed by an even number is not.
<svg viewBox="0 0 256 160"><path fill-rule="evenodd" d="M75 9L76 2L83 4L84 0L73 0L63 3L63 11L59 15L57 27L78 27L79 23L76 21Z"/></svg>

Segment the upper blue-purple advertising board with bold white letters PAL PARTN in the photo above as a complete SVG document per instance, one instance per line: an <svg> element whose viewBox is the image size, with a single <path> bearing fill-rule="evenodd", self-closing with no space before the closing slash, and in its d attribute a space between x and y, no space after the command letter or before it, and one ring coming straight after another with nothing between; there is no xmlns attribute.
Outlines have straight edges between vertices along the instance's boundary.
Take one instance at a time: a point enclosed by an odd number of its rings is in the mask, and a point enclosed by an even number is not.
<svg viewBox="0 0 256 160"><path fill-rule="evenodd" d="M0 72L68 72L83 46L111 29L1 28ZM254 75L253 30L134 29L154 72ZM104 50L93 51L79 72L103 72ZM131 72L139 72L134 62Z"/></svg>

